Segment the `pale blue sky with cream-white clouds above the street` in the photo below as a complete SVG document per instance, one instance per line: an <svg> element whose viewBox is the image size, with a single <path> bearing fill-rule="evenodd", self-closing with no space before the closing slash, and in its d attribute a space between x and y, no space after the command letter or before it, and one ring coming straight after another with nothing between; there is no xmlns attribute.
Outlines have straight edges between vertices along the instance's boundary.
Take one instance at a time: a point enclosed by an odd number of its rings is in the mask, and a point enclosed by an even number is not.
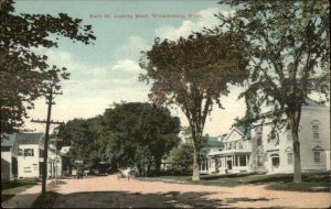
<svg viewBox="0 0 331 209"><path fill-rule="evenodd" d="M71 73L70 80L61 82L63 95L55 96L52 107L52 120L64 122L103 114L114 102L148 102L151 86L138 80L143 73L139 67L140 52L151 48L156 37L186 37L192 31L217 25L215 13L229 13L214 0L17 0L14 7L18 13L67 13L92 25L96 36L93 45L60 38L58 48L34 50L47 55L50 64L66 67ZM225 109L215 106L209 116L205 134L227 133L234 118L244 116L244 100L237 100L242 89L229 90L227 97L221 97ZM29 111L25 128L44 131L44 125L30 121L45 119L46 109L45 98L39 99L35 109ZM171 112L180 117L182 127L188 125L180 109Z"/></svg>

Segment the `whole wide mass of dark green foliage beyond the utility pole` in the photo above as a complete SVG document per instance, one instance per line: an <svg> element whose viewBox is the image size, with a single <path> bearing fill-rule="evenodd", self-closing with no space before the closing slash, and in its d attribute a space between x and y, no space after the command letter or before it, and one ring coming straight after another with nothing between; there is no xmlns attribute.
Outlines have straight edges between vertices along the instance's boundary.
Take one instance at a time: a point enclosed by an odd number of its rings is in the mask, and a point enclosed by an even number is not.
<svg viewBox="0 0 331 209"><path fill-rule="evenodd" d="M97 118L72 120L60 129L60 136L88 168L103 161L113 169L137 166L143 175L152 167L160 169L161 158L179 142L179 128L168 109L129 102L115 103Z"/></svg>

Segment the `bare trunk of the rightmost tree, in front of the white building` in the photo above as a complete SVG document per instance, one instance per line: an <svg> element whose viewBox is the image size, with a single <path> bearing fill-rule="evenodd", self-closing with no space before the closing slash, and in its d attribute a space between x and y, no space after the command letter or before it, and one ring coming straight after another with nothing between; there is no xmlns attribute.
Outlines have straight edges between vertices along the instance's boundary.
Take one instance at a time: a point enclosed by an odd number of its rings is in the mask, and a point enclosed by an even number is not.
<svg viewBox="0 0 331 209"><path fill-rule="evenodd" d="M292 143L293 143L293 182L301 183L301 156L300 156L300 141L298 135L298 123L295 114L288 116L290 129L292 133Z"/></svg>

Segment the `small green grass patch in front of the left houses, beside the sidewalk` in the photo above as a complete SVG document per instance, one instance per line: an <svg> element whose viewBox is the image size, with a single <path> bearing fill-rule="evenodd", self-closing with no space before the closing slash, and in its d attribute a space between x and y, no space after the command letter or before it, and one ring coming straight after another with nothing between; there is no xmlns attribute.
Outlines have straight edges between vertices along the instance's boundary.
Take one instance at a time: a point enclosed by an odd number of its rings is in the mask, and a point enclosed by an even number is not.
<svg viewBox="0 0 331 209"><path fill-rule="evenodd" d="M36 179L1 180L1 202L36 184Z"/></svg>

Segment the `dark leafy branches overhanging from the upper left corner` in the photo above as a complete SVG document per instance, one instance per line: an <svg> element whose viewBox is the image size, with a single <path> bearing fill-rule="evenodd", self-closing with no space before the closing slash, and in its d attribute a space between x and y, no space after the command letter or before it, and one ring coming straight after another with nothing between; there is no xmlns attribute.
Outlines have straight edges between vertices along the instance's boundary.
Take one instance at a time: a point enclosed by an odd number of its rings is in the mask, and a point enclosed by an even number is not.
<svg viewBox="0 0 331 209"><path fill-rule="evenodd" d="M89 44L95 40L90 25L64 13L17 14L12 0L0 0L0 119L1 135L22 128L26 109L67 79L66 68L47 64L47 56L34 48L57 47L58 36ZM2 136L1 136L2 138Z"/></svg>

